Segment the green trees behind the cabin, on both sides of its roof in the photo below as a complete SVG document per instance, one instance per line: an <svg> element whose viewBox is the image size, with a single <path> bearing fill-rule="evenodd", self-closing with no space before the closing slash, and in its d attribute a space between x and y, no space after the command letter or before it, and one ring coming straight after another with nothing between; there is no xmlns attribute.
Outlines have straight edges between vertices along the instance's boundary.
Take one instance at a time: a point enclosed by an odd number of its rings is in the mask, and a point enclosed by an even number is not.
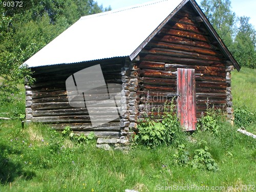
<svg viewBox="0 0 256 192"><path fill-rule="evenodd" d="M6 1L5 1L6 2ZM0 103L29 69L22 63L81 16L108 11L93 0L26 0L23 7L0 5ZM256 35L248 17L237 18L230 0L203 0L201 7L241 66L255 68Z"/></svg>

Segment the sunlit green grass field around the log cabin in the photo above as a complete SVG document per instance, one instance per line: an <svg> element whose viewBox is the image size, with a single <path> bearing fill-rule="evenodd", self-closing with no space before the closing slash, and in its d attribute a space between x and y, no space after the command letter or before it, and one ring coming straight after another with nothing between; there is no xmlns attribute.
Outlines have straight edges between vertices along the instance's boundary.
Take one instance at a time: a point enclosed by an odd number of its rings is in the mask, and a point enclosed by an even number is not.
<svg viewBox="0 0 256 192"><path fill-rule="evenodd" d="M232 72L236 108L245 105L254 113L255 91L255 70ZM24 99L24 93L18 93L15 103L1 107L2 117L23 113L24 101L19 97ZM171 187L179 187L177 191L185 187L191 191L208 187L211 191L254 191L256 140L237 129L223 123L218 134L186 135L184 151L177 144L155 150L138 145L125 154L100 150L95 140L77 144L47 125L29 124L22 129L18 119L0 120L0 191L170 191ZM255 121L248 129L255 131ZM186 163L205 147L217 163L215 172Z"/></svg>

